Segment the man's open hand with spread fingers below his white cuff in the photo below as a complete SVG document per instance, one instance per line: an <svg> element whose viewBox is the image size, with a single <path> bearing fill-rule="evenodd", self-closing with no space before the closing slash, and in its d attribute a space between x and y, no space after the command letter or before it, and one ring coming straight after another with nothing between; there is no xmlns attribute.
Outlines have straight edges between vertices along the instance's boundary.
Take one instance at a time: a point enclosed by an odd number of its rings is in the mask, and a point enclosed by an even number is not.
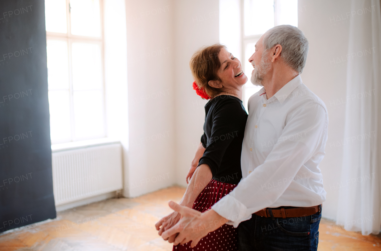
<svg viewBox="0 0 381 251"><path fill-rule="evenodd" d="M192 241L191 247L194 248L201 238L207 236L209 232L218 229L227 222L224 217L221 217L212 209L201 213L186 206L180 206L173 201L170 201L168 204L170 208L181 214L181 219L176 225L170 229L166 229L162 233L162 238L165 240L179 233L173 243L175 246Z"/></svg>

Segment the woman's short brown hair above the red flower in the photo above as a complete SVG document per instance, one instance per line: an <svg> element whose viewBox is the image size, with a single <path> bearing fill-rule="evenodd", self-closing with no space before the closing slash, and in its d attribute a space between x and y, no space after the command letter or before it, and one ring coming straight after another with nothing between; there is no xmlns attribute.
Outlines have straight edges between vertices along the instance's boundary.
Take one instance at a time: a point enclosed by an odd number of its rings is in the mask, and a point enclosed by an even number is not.
<svg viewBox="0 0 381 251"><path fill-rule="evenodd" d="M221 67L221 62L218 55L222 48L226 48L226 46L219 43L202 47L193 54L191 62L189 62L197 86L200 89L203 88L211 98L222 91L208 84L210 80L219 80L217 71Z"/></svg>

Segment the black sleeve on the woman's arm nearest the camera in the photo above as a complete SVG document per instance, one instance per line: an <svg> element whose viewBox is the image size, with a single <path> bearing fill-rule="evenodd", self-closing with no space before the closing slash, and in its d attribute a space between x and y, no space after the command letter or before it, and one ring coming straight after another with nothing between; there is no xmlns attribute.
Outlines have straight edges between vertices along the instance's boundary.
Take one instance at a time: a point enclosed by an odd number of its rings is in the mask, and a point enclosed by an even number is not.
<svg viewBox="0 0 381 251"><path fill-rule="evenodd" d="M243 133L246 116L240 102L235 100L225 101L214 109L210 142L199 161L199 165L207 164L210 167L213 176L218 171L229 144L240 132Z"/></svg>

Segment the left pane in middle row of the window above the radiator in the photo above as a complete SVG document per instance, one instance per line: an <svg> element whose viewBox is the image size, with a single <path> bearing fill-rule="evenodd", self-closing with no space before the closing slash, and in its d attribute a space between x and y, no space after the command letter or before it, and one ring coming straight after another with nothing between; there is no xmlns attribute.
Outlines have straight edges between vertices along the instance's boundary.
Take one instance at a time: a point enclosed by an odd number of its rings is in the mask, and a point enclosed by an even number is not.
<svg viewBox="0 0 381 251"><path fill-rule="evenodd" d="M69 90L69 62L67 42L47 40L49 90Z"/></svg>

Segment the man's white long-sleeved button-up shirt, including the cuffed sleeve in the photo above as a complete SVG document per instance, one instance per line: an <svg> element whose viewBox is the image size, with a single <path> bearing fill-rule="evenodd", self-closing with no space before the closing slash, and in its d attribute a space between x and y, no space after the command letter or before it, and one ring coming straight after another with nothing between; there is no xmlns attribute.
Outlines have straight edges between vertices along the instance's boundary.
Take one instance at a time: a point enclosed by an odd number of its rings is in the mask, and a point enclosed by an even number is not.
<svg viewBox="0 0 381 251"><path fill-rule="evenodd" d="M262 88L248 101L242 179L212 209L237 227L263 208L316 206L325 201L319 163L327 143L325 104L293 78L271 98Z"/></svg>

